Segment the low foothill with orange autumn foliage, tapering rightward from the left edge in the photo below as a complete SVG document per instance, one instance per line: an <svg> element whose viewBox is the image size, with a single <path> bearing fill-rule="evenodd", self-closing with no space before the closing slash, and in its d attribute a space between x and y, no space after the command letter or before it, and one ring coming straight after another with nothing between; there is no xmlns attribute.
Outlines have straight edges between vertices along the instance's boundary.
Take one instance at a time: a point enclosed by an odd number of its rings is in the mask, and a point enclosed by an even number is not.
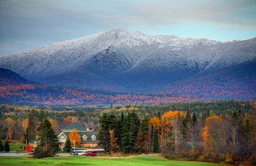
<svg viewBox="0 0 256 166"><path fill-rule="evenodd" d="M197 101L197 97L102 93L90 90L61 88L28 81L0 68L0 104L141 104Z"/></svg>

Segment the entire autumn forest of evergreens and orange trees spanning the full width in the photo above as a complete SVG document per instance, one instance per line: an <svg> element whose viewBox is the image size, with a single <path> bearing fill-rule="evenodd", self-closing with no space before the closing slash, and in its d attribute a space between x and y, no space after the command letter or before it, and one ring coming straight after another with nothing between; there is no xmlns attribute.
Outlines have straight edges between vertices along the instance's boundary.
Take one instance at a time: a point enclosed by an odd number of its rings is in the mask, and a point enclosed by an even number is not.
<svg viewBox="0 0 256 166"><path fill-rule="evenodd" d="M0 138L35 137L40 118L60 130L77 122L99 131L110 153L162 153L168 159L256 164L256 102L211 101L99 106L0 106ZM44 113L42 113L44 112ZM34 132L27 127L33 122Z"/></svg>

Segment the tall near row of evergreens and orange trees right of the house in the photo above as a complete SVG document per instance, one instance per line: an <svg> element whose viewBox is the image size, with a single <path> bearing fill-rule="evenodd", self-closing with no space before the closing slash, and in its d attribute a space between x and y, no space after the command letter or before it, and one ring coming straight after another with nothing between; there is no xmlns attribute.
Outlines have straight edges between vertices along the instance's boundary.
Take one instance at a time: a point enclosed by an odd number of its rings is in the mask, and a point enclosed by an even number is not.
<svg viewBox="0 0 256 166"><path fill-rule="evenodd" d="M133 110L99 118L100 146L110 154L163 153L169 159L256 164L256 116L190 110L139 118Z"/></svg>

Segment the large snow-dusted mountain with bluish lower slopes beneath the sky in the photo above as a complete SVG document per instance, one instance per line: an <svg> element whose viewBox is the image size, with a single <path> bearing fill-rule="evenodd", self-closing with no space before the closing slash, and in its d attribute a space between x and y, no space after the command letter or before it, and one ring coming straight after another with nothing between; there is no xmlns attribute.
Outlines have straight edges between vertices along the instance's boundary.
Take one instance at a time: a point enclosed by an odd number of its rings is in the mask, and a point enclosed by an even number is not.
<svg viewBox="0 0 256 166"><path fill-rule="evenodd" d="M0 57L0 67L43 84L222 99L239 99L246 87L255 87L255 62L256 38L219 42L124 29ZM221 94L215 93L215 85L223 89ZM243 99L256 99L255 91Z"/></svg>

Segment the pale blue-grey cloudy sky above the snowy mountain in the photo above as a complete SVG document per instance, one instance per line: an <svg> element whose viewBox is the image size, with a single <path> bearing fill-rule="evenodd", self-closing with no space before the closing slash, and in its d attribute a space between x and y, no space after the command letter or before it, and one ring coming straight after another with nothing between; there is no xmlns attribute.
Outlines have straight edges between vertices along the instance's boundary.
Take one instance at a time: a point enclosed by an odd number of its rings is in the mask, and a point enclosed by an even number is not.
<svg viewBox="0 0 256 166"><path fill-rule="evenodd" d="M218 41L256 37L255 0L0 0L0 56L123 28Z"/></svg>

